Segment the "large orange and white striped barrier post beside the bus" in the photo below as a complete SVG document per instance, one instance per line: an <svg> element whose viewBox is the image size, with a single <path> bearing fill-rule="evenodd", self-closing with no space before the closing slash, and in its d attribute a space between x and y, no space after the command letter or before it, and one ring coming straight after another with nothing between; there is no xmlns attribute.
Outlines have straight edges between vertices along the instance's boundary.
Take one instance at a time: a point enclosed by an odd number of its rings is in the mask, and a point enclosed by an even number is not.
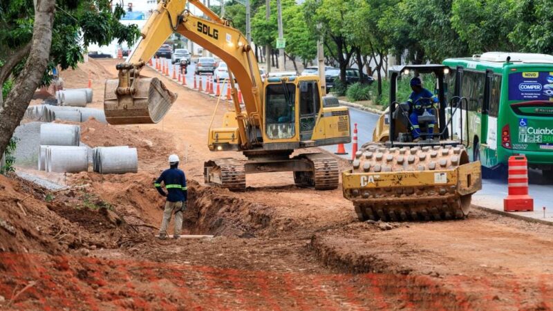
<svg viewBox="0 0 553 311"><path fill-rule="evenodd" d="M534 199L528 195L528 160L526 156L509 157L509 194L503 199L503 211L534 211Z"/></svg>

